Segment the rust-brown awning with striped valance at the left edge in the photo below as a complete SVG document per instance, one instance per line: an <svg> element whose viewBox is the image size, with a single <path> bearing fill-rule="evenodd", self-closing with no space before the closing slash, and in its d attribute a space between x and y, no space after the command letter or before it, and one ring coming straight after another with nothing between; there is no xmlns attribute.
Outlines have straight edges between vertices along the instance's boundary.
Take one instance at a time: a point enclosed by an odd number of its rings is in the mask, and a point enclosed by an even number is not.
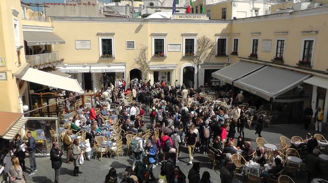
<svg viewBox="0 0 328 183"><path fill-rule="evenodd" d="M0 112L0 137L11 140L24 126L27 119L21 113Z"/></svg>

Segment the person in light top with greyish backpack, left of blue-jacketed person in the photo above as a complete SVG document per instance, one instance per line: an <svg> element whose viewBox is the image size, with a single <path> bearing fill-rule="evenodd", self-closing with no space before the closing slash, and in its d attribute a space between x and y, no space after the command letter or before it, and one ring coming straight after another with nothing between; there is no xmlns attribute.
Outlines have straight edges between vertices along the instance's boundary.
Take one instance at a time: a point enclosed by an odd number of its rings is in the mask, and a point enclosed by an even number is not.
<svg viewBox="0 0 328 183"><path fill-rule="evenodd" d="M133 160L132 160L132 168L135 168L135 164L137 161L137 157L139 157L139 160L142 160L142 153L144 151L144 139L142 138L142 133L137 133L136 137L133 137L130 143L130 149L133 152Z"/></svg>

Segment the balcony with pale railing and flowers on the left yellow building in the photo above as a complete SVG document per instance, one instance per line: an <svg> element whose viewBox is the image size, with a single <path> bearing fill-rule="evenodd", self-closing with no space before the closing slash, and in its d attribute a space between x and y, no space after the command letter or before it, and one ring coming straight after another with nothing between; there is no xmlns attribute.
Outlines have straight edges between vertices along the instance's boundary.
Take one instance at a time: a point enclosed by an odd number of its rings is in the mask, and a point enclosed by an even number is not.
<svg viewBox="0 0 328 183"><path fill-rule="evenodd" d="M33 68L42 69L63 63L64 59L59 58L59 52L43 53L37 55L26 55L26 62Z"/></svg>

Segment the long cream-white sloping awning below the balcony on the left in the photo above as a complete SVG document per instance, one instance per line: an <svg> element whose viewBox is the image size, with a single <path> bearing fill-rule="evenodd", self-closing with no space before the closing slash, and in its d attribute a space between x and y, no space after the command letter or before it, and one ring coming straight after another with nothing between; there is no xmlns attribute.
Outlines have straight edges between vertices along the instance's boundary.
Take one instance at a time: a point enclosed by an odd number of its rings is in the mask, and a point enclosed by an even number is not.
<svg viewBox="0 0 328 183"><path fill-rule="evenodd" d="M58 89L84 93L77 80L39 71L37 69L28 68L22 80Z"/></svg>

